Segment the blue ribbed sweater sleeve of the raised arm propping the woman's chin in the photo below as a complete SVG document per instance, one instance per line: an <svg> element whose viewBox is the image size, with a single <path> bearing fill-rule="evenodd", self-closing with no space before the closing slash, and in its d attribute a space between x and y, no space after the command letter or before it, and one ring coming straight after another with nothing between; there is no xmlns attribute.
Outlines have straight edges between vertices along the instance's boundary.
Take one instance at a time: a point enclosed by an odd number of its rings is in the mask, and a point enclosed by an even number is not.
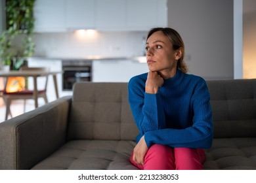
<svg viewBox="0 0 256 183"><path fill-rule="evenodd" d="M146 131L165 127L161 95L160 93L145 93L144 85L144 82L136 77L132 78L128 84L129 104L141 135L144 135Z"/></svg>

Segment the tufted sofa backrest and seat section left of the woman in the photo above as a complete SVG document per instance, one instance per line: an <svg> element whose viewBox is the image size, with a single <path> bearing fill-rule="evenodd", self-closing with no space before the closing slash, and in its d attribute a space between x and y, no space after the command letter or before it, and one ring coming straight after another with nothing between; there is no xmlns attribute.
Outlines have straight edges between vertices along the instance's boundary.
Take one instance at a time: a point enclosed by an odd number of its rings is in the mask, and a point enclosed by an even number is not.
<svg viewBox="0 0 256 183"><path fill-rule="evenodd" d="M69 142L33 169L137 169L127 161L137 133L126 83L75 84Z"/></svg>

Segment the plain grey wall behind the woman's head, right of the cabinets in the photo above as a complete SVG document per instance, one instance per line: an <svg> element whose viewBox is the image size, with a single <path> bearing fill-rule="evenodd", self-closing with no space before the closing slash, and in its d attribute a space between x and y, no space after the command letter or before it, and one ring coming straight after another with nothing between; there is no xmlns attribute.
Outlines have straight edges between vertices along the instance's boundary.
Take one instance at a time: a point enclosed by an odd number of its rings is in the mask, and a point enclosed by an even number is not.
<svg viewBox="0 0 256 183"><path fill-rule="evenodd" d="M169 0L168 25L183 38L190 73L233 78L233 0Z"/></svg>

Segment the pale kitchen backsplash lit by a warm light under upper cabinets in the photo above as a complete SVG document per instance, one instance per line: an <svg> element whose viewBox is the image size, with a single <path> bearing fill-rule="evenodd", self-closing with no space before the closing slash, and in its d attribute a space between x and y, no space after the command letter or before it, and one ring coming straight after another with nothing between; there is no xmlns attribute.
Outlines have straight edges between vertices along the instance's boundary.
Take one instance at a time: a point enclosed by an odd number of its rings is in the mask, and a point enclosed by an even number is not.
<svg viewBox="0 0 256 183"><path fill-rule="evenodd" d="M34 56L50 58L143 56L146 34L147 32L143 31L36 33Z"/></svg>

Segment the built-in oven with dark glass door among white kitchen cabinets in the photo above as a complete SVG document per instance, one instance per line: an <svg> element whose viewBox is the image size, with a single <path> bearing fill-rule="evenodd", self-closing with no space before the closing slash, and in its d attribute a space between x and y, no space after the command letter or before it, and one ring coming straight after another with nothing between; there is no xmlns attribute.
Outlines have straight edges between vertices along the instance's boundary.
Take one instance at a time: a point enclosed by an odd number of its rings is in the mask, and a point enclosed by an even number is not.
<svg viewBox="0 0 256 183"><path fill-rule="evenodd" d="M63 60L62 61L62 91L72 91L75 82L92 80L92 61Z"/></svg>

